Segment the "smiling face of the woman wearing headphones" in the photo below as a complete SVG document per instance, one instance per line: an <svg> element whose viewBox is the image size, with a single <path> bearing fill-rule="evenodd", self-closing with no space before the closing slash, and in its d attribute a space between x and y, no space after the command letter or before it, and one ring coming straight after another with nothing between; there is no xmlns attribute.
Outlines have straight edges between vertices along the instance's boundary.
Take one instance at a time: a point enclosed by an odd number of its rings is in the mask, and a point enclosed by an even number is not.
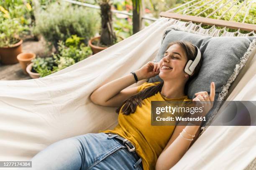
<svg viewBox="0 0 256 170"><path fill-rule="evenodd" d="M171 45L164 53L164 57L160 60L159 77L163 80L184 79L186 63L187 56L183 48L178 44ZM169 68L164 68L164 65Z"/></svg>

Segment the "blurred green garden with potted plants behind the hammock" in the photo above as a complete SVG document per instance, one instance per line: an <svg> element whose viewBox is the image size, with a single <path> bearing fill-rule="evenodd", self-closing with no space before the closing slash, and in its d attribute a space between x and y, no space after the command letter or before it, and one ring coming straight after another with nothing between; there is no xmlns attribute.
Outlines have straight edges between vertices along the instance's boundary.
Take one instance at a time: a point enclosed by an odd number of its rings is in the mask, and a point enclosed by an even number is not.
<svg viewBox="0 0 256 170"><path fill-rule="evenodd" d="M133 17L122 13L134 13L139 6L143 16L147 18L141 22L140 29L143 29L159 18L161 11L179 6L188 0L80 0L77 2L95 5L93 7L99 9L76 5L65 0L0 1L0 55L1 50L15 48L19 43L22 52L35 54L26 62L26 64L32 62L31 67L28 69L26 65L23 70L20 67L22 63L19 64L17 59L11 64L4 63L1 55L0 80L26 80L33 77L29 77L27 72L36 75L33 78L38 78L62 70L136 33L133 25L136 27L138 25L133 23ZM219 5L202 12L200 16L209 15L225 2L228 0L222 0ZM237 5L221 19L229 20L243 2L239 0ZM200 2L198 5L203 3ZM209 5L189 15L198 14ZM186 7L185 5L178 10ZM217 19L228 8L229 4L210 18ZM111 10L118 10L120 13L111 13ZM243 20L246 7L242 7L240 11L233 21ZM187 10L182 11L183 14L186 12ZM256 4L253 4L245 23L255 24L255 16ZM95 50L94 46L100 48Z"/></svg>

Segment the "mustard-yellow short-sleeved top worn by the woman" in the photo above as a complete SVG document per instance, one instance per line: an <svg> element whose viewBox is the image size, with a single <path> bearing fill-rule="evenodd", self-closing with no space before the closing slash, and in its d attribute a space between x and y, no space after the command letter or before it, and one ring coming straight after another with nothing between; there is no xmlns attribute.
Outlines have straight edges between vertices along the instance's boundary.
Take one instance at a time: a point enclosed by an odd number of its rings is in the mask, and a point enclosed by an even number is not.
<svg viewBox="0 0 256 170"><path fill-rule="evenodd" d="M138 92L157 85L160 82L144 82L138 86ZM113 130L100 131L104 133L116 133L129 140L136 147L136 153L141 157L144 170L154 170L157 158L167 145L175 126L151 126L151 101L182 100L191 101L187 95L179 98L166 98L160 94L148 97L141 107L136 107L134 113L123 115L119 112L118 125Z"/></svg>

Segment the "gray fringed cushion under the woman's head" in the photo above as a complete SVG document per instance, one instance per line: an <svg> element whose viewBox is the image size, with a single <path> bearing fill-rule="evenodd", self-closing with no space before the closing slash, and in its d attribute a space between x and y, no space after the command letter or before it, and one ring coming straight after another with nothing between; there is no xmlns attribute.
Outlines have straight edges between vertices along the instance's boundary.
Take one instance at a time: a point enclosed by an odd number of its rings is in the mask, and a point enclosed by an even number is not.
<svg viewBox="0 0 256 170"><path fill-rule="evenodd" d="M170 30L165 36L159 49L155 62L161 60L170 42L185 40L197 45L202 53L203 62L197 77L190 83L188 97L193 99L195 93L200 91L210 92L210 82L215 82L215 103L212 110L207 114L207 119L215 109L222 86L226 85L228 78L232 75L236 64L240 62L247 51L250 43L255 37L207 37L190 32ZM163 81L159 75L151 77L148 82Z"/></svg>

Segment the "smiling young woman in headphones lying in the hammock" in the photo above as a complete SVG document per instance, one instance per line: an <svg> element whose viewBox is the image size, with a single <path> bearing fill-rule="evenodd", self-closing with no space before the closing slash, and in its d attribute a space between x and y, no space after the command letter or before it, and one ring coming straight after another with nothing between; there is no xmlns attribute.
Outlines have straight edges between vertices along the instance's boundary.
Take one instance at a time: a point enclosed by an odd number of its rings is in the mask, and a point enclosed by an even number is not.
<svg viewBox="0 0 256 170"><path fill-rule="evenodd" d="M32 158L33 170L169 170L186 153L200 126L151 126L151 101L188 99L187 84L201 67L202 58L191 73L188 60L195 60L197 48L189 42L169 44L160 62L148 62L129 74L102 85L90 99L97 105L119 107L118 125L113 130L88 133L60 140ZM159 75L163 82L133 83ZM138 80L136 80L138 79ZM215 85L198 92L193 101L213 101ZM206 113L212 104L205 105Z"/></svg>

